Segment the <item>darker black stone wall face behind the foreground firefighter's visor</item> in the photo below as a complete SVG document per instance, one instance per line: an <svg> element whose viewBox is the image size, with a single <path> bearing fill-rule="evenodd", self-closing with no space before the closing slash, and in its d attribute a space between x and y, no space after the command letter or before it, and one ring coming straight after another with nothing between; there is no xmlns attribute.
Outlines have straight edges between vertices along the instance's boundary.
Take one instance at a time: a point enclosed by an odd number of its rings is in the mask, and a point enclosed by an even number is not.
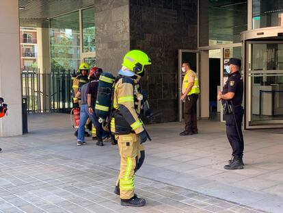
<svg viewBox="0 0 283 213"><path fill-rule="evenodd" d="M197 49L197 0L129 0L130 47L148 53L142 79L155 122L178 121L178 49Z"/></svg>

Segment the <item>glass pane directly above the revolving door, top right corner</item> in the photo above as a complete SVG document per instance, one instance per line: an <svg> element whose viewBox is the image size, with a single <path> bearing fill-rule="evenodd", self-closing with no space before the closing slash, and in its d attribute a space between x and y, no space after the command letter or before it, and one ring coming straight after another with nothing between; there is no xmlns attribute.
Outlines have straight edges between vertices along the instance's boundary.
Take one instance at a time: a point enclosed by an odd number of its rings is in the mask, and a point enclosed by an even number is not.
<svg viewBox="0 0 283 213"><path fill-rule="evenodd" d="M253 0L252 1L252 27L283 26L282 0Z"/></svg>

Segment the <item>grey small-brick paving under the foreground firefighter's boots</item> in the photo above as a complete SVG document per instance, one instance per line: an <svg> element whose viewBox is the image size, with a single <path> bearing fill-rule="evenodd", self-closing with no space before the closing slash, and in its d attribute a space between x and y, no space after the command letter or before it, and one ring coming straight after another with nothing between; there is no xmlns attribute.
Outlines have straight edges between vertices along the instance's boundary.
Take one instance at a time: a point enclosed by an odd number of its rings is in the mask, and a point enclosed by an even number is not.
<svg viewBox="0 0 283 213"><path fill-rule="evenodd" d="M142 177L137 194L147 205L126 208L113 193L118 171L24 141L1 145L0 212L260 212Z"/></svg>

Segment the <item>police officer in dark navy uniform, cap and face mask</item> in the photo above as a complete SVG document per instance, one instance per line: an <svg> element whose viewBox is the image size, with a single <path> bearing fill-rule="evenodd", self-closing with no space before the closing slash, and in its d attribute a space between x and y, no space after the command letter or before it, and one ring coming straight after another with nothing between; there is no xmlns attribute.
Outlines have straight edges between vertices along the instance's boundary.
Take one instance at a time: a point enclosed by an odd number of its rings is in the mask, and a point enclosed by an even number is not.
<svg viewBox="0 0 283 213"><path fill-rule="evenodd" d="M241 60L238 58L230 58L225 64L226 71L229 74L228 80L224 85L223 91L219 91L217 99L223 105L224 120L226 121L226 134L232 147L232 159L229 164L224 166L225 169L241 169L243 168L243 149L244 141L241 130L244 110L243 101L243 80L239 73L241 68Z"/></svg>

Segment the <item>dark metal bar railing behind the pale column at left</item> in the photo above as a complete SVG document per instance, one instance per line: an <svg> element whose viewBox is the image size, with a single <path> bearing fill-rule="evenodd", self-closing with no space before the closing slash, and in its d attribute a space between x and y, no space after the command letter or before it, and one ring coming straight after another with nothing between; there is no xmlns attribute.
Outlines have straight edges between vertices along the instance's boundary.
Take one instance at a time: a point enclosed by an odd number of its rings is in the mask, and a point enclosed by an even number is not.
<svg viewBox="0 0 283 213"><path fill-rule="evenodd" d="M36 68L22 70L22 95L27 98L27 113L70 112L72 75L75 73L40 73Z"/></svg>

